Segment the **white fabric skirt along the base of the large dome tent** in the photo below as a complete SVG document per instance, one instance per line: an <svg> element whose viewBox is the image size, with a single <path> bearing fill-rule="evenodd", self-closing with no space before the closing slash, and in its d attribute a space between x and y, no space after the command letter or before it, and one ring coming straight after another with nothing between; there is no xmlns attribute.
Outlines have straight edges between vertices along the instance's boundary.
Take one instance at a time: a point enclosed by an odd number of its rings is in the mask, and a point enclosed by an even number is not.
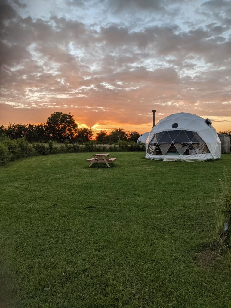
<svg viewBox="0 0 231 308"><path fill-rule="evenodd" d="M207 159L218 159L221 156L213 156L212 154L193 154L193 155L152 155L146 153L146 158L163 161L204 161Z"/></svg>

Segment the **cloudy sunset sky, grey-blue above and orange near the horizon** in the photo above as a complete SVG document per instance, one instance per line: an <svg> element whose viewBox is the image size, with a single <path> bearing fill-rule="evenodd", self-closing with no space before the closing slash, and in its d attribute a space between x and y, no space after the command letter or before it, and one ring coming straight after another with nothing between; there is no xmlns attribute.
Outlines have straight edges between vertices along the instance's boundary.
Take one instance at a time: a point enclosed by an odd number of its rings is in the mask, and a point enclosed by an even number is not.
<svg viewBox="0 0 231 308"><path fill-rule="evenodd" d="M231 1L1 1L0 124L71 112L140 133L176 112L231 128Z"/></svg>

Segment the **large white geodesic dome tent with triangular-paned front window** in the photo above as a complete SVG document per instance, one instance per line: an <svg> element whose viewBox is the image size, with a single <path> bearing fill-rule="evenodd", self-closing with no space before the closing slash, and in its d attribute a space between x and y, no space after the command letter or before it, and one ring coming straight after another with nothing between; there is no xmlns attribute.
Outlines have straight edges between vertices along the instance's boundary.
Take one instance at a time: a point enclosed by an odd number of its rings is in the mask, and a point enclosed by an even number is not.
<svg viewBox="0 0 231 308"><path fill-rule="evenodd" d="M202 161L221 157L221 141L209 119L191 113L168 115L146 140L146 158Z"/></svg>

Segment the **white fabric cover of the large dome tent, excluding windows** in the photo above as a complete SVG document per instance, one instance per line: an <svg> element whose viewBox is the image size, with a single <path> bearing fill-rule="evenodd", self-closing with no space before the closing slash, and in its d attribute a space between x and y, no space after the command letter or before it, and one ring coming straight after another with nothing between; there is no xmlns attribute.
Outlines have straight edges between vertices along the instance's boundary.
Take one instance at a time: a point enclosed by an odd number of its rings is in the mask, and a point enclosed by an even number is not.
<svg viewBox="0 0 231 308"><path fill-rule="evenodd" d="M178 127L172 128L173 123L177 123ZM180 129L197 132L206 143L210 153L193 155L152 155L147 153L148 144L156 133ZM205 119L201 118L199 115L184 112L175 113L160 120L156 126L152 128L146 140L145 157L156 160L164 159L164 161L202 161L210 158L216 159L221 157L221 140L219 139L215 128L212 125L208 125L205 122Z"/></svg>

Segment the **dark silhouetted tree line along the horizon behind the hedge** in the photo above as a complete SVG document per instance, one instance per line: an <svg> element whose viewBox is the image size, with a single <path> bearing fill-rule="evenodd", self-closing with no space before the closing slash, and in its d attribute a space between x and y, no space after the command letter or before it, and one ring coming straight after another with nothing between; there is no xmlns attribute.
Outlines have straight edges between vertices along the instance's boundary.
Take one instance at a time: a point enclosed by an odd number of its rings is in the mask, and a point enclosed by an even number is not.
<svg viewBox="0 0 231 308"><path fill-rule="evenodd" d="M78 127L75 123L74 115L69 112L63 113L56 111L47 118L46 123L41 124L14 124L10 123L7 127L0 126L0 136L4 135L11 139L25 137L29 143L47 143L57 141L58 143L83 144L93 138L92 128ZM125 132L122 128L114 129L107 134L101 130L96 135L96 141L100 143L117 143L118 141L135 141L137 142L140 134L138 132Z"/></svg>

